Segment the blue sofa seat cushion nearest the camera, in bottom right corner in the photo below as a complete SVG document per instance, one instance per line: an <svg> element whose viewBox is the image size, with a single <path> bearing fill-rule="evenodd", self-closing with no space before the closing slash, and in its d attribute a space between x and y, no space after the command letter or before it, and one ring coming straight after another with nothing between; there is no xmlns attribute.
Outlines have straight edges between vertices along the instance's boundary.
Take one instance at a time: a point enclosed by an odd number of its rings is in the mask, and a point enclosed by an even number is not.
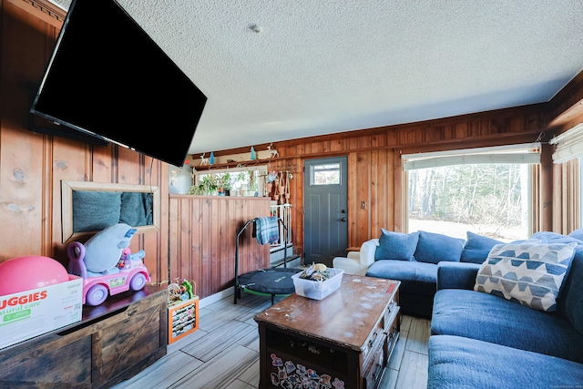
<svg viewBox="0 0 583 389"><path fill-rule="evenodd" d="M580 363L457 336L429 338L428 389L547 389L581 383Z"/></svg>

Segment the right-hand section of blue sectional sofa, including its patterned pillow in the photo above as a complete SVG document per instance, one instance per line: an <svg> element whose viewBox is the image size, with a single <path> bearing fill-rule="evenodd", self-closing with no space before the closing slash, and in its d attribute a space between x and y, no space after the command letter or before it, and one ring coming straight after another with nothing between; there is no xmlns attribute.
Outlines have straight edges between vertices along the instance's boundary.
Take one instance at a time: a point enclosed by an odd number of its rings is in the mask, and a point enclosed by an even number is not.
<svg viewBox="0 0 583 389"><path fill-rule="evenodd" d="M440 262L427 387L582 387L581 235L538 232L481 265Z"/></svg>

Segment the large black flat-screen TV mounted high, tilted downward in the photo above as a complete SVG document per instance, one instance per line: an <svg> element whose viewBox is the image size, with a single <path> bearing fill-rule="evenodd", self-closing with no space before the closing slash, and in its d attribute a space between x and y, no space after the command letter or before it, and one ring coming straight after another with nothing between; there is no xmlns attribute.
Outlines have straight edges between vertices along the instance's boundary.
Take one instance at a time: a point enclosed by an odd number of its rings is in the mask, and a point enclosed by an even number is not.
<svg viewBox="0 0 583 389"><path fill-rule="evenodd" d="M207 97L114 0L73 0L31 113L181 167Z"/></svg>

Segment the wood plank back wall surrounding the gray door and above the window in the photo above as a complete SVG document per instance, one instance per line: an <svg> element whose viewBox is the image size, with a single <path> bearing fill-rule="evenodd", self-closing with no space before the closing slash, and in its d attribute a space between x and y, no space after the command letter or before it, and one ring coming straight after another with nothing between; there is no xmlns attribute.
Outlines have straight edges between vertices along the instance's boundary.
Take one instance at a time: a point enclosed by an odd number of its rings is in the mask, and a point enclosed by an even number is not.
<svg viewBox="0 0 583 389"><path fill-rule="evenodd" d="M402 154L534 142L547 126L546 112L545 105L533 105L275 142L273 148L280 157L271 160L269 169L292 167L294 176L290 200L294 251L303 252L306 159L348 157L348 245L358 247L363 241L378 237L381 228L406 230ZM550 135L542 140L548 140ZM234 155L246 149L249 147L214 153ZM366 201L366 209L361 209L361 201Z"/></svg>

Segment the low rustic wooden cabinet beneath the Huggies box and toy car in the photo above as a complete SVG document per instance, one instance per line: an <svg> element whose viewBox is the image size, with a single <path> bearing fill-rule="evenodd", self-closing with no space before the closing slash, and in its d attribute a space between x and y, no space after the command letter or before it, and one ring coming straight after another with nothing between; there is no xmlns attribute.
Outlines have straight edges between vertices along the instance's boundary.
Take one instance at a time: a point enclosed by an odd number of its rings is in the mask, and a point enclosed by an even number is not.
<svg viewBox="0 0 583 389"><path fill-rule="evenodd" d="M166 288L111 296L81 322L0 350L0 387L106 388L166 354Z"/></svg>

